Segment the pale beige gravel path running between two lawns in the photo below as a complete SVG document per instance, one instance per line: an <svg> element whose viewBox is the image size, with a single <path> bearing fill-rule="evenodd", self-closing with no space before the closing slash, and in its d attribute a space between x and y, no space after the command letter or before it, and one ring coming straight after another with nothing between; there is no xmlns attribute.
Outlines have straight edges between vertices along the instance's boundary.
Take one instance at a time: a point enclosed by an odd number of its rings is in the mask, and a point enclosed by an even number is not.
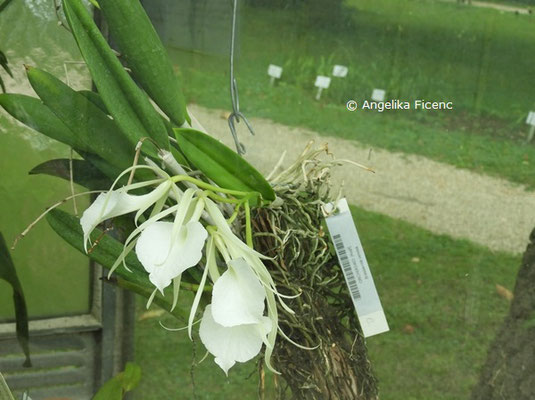
<svg viewBox="0 0 535 400"><path fill-rule="evenodd" d="M213 135L234 148L226 112L196 105L191 112ZM372 167L372 174L347 165L334 174L355 205L399 218L439 234L468 239L492 250L521 253L535 226L535 193L522 185L455 168L425 157L366 147L355 141L319 137L315 132L273 121L250 119L256 136L239 124L246 158L264 173L284 150L288 165L306 143L328 142L337 158ZM294 156L293 156L294 155ZM368 159L368 157L370 157Z"/></svg>

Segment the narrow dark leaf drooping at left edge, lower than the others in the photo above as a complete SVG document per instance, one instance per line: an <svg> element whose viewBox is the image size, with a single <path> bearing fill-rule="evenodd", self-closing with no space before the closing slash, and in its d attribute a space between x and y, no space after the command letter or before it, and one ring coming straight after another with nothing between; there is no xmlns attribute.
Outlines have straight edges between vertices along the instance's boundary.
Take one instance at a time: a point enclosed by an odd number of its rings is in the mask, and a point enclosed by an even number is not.
<svg viewBox="0 0 535 400"><path fill-rule="evenodd" d="M6 281L13 288L13 303L15 305L15 319L16 319L16 331L17 340L19 341L24 354L26 355L26 361L24 367L31 367L32 362L30 360L30 334L28 329L28 310L26 308L26 300L24 299L24 292L22 291L22 285L20 284L19 277L13 260L9 255L9 250L4 240L4 235L0 232L0 279Z"/></svg>

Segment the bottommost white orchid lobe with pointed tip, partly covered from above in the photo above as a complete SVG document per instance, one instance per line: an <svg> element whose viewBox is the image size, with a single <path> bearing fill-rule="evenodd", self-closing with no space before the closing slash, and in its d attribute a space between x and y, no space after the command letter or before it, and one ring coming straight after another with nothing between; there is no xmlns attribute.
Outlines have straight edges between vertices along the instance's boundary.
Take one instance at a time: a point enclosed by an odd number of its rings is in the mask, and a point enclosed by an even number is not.
<svg viewBox="0 0 535 400"><path fill-rule="evenodd" d="M262 343L272 329L271 320L262 317L259 323L224 327L214 321L212 306L204 310L199 336L206 349L215 356L215 362L225 374L238 362L246 362L255 357Z"/></svg>

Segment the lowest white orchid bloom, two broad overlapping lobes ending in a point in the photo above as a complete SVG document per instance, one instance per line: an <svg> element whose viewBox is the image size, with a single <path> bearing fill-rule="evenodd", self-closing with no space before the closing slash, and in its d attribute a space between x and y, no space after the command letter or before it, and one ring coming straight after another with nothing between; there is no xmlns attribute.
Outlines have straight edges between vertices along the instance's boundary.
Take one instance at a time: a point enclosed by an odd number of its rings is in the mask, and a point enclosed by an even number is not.
<svg viewBox="0 0 535 400"><path fill-rule="evenodd" d="M263 316L265 290L244 259L231 260L215 282L212 304L204 310L201 341L225 374L236 362L246 362L268 345L270 318Z"/></svg>

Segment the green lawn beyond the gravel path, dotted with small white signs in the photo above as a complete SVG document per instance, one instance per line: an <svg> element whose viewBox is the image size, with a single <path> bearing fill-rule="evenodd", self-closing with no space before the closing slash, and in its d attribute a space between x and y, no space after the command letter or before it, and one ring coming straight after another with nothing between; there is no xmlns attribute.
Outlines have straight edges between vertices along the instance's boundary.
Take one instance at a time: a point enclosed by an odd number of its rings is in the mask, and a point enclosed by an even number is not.
<svg viewBox="0 0 535 400"><path fill-rule="evenodd" d="M315 29L302 14L244 8L237 79L247 116L305 126L325 136L420 154L535 186L535 145L524 120L535 108L531 16L425 0L352 0L354 25ZM171 50L189 101L230 108L225 57ZM269 86L269 63L284 67ZM314 100L314 77L350 68ZM455 110L345 109L372 88L387 98L451 100ZM225 88L225 89L222 89Z"/></svg>

